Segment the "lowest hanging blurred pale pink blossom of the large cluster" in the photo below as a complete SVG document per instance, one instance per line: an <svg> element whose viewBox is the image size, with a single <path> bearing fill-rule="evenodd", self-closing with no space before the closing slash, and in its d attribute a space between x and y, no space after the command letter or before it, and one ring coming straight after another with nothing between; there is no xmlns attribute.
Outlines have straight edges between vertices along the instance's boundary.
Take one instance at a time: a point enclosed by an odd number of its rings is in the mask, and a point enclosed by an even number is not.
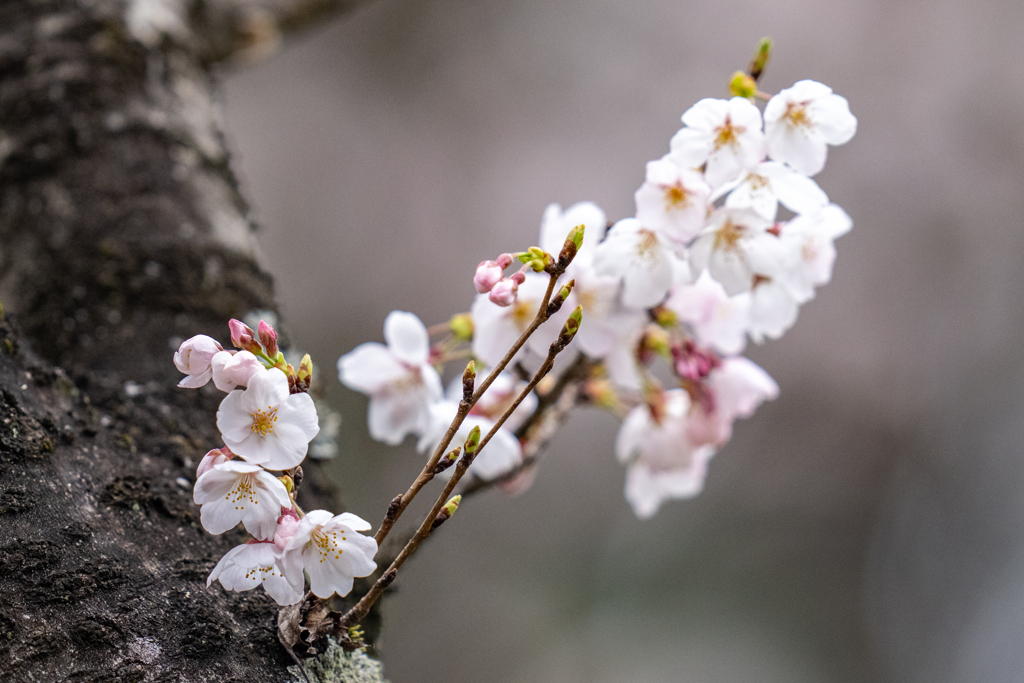
<svg viewBox="0 0 1024 683"><path fill-rule="evenodd" d="M712 446L695 446L689 438L690 398L684 390L665 391L657 402L633 409L615 438L615 455L629 466L626 499L642 519L653 516L668 499L699 494L715 454Z"/></svg>

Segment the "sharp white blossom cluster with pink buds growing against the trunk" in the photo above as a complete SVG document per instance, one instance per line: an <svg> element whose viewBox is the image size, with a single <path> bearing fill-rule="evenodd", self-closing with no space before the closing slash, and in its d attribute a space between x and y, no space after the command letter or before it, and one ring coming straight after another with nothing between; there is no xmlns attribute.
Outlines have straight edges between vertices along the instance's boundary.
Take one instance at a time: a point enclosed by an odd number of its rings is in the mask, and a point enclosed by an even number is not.
<svg viewBox="0 0 1024 683"><path fill-rule="evenodd" d="M353 578L377 568L377 542L359 533L370 524L350 513L303 513L294 500L299 465L319 432L307 393L312 361L304 356L298 370L286 362L278 333L263 321L257 332L239 321L229 328L239 350L199 335L174 354L185 374L178 386L198 389L213 380L227 393L217 411L224 445L210 451L196 472L203 527L219 535L241 523L253 537L221 558L207 585L263 586L279 604L290 605L302 599L308 574L314 595L346 595Z"/></svg>

